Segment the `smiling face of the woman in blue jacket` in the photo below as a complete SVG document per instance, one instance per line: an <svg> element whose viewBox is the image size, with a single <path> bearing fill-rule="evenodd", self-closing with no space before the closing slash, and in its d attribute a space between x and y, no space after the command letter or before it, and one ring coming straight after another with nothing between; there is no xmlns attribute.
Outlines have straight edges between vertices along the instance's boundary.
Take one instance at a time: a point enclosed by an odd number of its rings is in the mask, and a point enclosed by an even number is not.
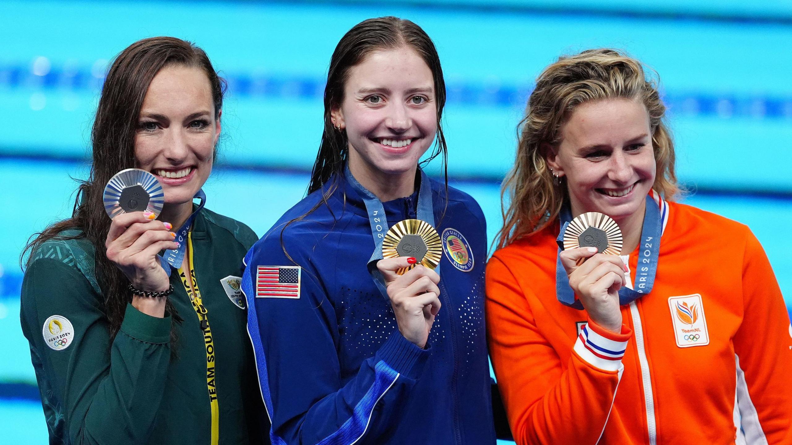
<svg viewBox="0 0 792 445"><path fill-rule="evenodd" d="M356 177L414 174L437 132L432 70L412 48L372 52L349 70L331 116L346 131Z"/></svg>

